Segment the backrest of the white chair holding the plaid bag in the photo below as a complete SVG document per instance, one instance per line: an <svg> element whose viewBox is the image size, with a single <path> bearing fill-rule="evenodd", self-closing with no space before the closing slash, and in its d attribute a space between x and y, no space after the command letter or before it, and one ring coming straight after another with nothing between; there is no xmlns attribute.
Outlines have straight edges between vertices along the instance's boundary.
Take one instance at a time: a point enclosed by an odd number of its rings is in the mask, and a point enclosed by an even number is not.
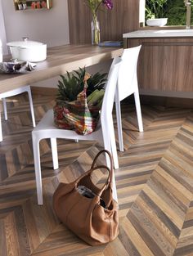
<svg viewBox="0 0 193 256"><path fill-rule="evenodd" d="M112 110L114 105L114 94L118 80L119 66L121 64L121 59L117 59L116 64L111 67L110 74L108 76L107 83L105 85L105 95L103 97L102 107L101 107L101 124L103 121L107 122L112 116Z"/></svg>

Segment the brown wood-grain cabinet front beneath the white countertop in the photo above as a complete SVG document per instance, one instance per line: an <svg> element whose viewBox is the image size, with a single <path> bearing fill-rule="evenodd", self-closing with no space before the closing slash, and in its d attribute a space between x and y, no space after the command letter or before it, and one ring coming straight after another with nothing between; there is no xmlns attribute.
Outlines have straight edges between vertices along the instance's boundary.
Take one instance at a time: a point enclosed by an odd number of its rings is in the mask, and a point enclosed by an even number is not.
<svg viewBox="0 0 193 256"><path fill-rule="evenodd" d="M193 38L129 38L124 43L127 47L140 44L140 88L168 92L193 91Z"/></svg>

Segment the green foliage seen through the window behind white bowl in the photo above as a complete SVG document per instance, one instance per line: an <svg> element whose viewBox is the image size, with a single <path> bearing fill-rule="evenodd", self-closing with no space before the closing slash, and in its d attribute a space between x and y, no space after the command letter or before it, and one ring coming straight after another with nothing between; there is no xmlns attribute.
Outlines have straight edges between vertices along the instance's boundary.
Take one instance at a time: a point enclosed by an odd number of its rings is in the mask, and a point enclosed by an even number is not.
<svg viewBox="0 0 193 256"><path fill-rule="evenodd" d="M191 0L193 5L193 0ZM186 25L186 7L183 0L146 0L146 20L168 18L167 25ZM191 10L193 25L193 7Z"/></svg>

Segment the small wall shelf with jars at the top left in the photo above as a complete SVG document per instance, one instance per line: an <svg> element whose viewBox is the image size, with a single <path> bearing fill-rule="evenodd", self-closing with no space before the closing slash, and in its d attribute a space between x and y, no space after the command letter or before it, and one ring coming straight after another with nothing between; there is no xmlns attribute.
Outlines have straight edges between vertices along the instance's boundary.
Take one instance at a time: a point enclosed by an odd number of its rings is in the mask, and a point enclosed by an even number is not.
<svg viewBox="0 0 193 256"><path fill-rule="evenodd" d="M51 9L52 0L13 0L16 11Z"/></svg>

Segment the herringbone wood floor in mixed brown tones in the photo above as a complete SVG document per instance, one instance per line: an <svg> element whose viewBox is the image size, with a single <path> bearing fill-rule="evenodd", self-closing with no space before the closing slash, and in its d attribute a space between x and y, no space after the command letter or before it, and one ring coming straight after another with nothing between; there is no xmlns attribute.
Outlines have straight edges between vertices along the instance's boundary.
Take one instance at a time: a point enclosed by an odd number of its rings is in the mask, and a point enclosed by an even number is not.
<svg viewBox="0 0 193 256"><path fill-rule="evenodd" d="M135 108L122 106L125 151L119 152L115 172L119 237L91 247L58 221L52 195L59 182L88 170L101 146L59 140L60 168L54 171L49 141L43 141L44 205L38 206L28 101L24 96L9 101L0 145L1 256L193 255L192 110L142 106L145 132L140 133ZM34 99L37 122L53 104L50 97ZM94 178L105 181L101 172Z"/></svg>

